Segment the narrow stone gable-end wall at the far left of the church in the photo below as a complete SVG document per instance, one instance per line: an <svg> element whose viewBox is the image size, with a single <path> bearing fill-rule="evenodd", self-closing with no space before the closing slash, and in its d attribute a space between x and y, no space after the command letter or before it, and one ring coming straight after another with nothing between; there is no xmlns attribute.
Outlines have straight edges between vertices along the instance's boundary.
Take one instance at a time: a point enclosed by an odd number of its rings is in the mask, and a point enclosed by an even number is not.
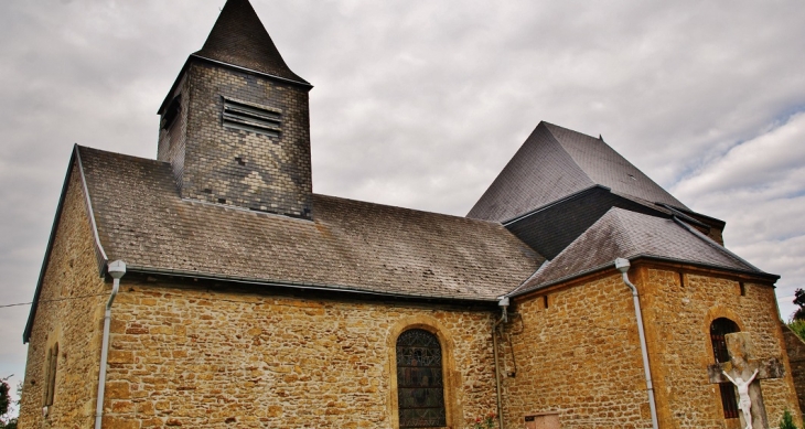
<svg viewBox="0 0 805 429"><path fill-rule="evenodd" d="M89 428L109 289L98 274L78 172L73 171L28 346L19 428ZM54 401L44 405L47 350L58 343Z"/></svg>

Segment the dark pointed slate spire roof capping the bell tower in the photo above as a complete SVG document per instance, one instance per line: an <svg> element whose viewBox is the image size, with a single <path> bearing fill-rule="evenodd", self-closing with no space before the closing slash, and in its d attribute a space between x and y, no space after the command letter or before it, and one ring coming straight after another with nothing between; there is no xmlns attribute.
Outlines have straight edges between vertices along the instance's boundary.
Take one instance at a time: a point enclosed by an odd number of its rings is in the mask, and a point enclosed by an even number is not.
<svg viewBox="0 0 805 429"><path fill-rule="evenodd" d="M248 0L227 0L204 46L193 55L308 84L282 60Z"/></svg>

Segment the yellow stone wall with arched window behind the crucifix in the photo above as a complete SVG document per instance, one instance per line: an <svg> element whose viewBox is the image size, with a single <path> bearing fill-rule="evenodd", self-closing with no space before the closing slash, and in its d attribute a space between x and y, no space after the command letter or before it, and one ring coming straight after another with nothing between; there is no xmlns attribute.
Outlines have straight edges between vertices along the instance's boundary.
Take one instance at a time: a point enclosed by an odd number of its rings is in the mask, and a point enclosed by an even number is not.
<svg viewBox="0 0 805 429"><path fill-rule="evenodd" d="M636 271L636 272L635 272ZM774 289L709 272L641 267L630 272L642 293L661 426L670 428L737 428L724 420L718 386L707 366L715 362L710 323L728 318L749 332L756 358L780 357L786 377L761 380L769 422L776 426L797 399L785 353Z"/></svg>

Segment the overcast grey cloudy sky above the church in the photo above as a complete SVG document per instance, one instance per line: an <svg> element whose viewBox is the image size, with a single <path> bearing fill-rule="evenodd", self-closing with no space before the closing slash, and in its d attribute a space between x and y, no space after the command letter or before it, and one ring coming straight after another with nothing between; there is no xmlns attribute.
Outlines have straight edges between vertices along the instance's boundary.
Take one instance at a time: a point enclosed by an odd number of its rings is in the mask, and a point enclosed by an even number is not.
<svg viewBox="0 0 805 429"><path fill-rule="evenodd" d="M155 158L224 0L0 1L0 305L31 301L73 143ZM464 215L540 120L607 142L805 287L797 1L253 0L311 97L318 193ZM0 377L29 307L0 308Z"/></svg>

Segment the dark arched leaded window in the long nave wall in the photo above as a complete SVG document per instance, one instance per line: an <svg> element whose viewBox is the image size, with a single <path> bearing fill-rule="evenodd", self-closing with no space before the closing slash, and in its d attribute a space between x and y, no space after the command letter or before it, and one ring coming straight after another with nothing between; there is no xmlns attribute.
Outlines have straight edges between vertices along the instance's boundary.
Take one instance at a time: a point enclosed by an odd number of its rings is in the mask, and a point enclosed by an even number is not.
<svg viewBox="0 0 805 429"><path fill-rule="evenodd" d="M447 426L442 354L439 339L412 329L397 337L397 406L399 427Z"/></svg>

